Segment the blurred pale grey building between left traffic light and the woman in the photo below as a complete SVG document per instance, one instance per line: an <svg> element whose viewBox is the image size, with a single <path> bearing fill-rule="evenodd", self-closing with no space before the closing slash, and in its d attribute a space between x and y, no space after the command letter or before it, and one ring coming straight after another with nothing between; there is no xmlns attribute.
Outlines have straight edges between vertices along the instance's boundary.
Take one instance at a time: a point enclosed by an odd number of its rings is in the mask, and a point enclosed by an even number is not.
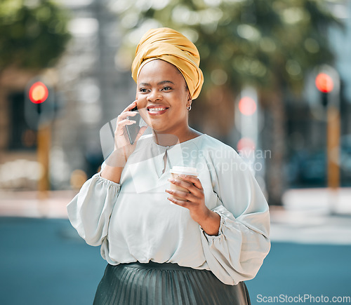
<svg viewBox="0 0 351 305"><path fill-rule="evenodd" d="M118 71L114 58L121 33L105 1L61 1L72 12L73 35L58 65L58 88L65 114L53 126L51 184L69 187L74 170L91 177L102 163L99 130L133 101L130 72Z"/></svg>

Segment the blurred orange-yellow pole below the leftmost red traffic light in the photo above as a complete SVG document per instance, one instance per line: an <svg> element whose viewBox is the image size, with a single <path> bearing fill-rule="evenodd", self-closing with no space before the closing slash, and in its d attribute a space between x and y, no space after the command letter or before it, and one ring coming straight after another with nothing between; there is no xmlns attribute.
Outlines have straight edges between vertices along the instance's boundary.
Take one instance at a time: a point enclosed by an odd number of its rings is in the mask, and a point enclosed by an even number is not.
<svg viewBox="0 0 351 305"><path fill-rule="evenodd" d="M38 162L43 170L38 182L38 196L40 199L48 198L49 182L49 152L51 145L51 125L43 124L38 128Z"/></svg>

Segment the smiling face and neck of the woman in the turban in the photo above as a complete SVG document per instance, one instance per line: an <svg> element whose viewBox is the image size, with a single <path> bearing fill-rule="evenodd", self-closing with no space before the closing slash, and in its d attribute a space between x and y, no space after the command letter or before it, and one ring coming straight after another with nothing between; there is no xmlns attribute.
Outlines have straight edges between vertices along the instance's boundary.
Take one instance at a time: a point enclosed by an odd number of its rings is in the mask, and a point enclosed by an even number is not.
<svg viewBox="0 0 351 305"><path fill-rule="evenodd" d="M136 100L140 116L156 133L189 133L187 106L192 102L183 75L164 60L147 62L140 70Z"/></svg>

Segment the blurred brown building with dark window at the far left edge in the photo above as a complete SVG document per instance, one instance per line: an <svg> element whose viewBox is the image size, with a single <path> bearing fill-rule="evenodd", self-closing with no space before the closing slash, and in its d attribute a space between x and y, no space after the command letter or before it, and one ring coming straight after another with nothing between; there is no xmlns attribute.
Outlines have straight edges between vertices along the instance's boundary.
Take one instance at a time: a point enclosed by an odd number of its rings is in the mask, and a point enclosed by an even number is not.
<svg viewBox="0 0 351 305"><path fill-rule="evenodd" d="M31 72L7 69L0 77L0 188L36 186L37 136L24 118L25 86Z"/></svg>

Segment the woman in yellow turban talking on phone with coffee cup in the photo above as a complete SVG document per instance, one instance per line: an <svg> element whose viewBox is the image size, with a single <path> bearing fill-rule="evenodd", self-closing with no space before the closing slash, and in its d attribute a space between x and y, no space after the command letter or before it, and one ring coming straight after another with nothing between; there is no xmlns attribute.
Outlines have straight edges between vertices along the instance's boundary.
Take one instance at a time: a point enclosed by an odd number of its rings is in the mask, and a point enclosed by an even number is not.
<svg viewBox="0 0 351 305"><path fill-rule="evenodd" d="M234 149L188 125L203 83L197 48L152 29L132 76L136 100L117 118L114 151L67 207L108 262L94 304L249 304L244 280L270 250L268 206ZM132 145L135 107L152 135L141 128ZM173 166L198 175L170 179Z"/></svg>

